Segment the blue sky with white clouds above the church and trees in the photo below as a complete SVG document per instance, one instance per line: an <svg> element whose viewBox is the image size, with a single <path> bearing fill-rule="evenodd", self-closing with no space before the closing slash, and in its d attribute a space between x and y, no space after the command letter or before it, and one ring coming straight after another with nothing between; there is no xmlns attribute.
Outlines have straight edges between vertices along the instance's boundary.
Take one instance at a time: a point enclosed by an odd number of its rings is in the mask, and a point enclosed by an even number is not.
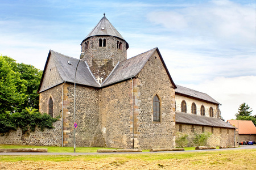
<svg viewBox="0 0 256 170"><path fill-rule="evenodd" d="M158 47L175 84L204 92L235 118L256 114L256 1L0 0L0 54L43 70L49 50L79 58L106 14L127 58Z"/></svg>

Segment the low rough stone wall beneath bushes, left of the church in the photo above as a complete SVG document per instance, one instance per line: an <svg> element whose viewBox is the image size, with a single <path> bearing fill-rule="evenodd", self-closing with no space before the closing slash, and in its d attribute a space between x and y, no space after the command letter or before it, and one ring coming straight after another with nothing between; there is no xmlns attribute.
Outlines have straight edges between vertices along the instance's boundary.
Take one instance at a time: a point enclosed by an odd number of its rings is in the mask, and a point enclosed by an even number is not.
<svg viewBox="0 0 256 170"><path fill-rule="evenodd" d="M44 129L38 127L29 134L22 134L22 130L11 130L0 134L1 145L35 145L35 146L61 146L61 121L53 123L55 128Z"/></svg>

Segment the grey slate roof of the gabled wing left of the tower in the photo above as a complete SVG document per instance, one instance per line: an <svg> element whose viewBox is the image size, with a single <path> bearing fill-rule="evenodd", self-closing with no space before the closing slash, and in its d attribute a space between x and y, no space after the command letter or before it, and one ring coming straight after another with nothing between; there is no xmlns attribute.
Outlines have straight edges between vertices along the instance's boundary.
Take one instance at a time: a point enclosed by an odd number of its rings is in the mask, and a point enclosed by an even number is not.
<svg viewBox="0 0 256 170"><path fill-rule="evenodd" d="M44 66L44 71L43 71L43 75L42 75L40 86L39 86L39 92L47 90L47 89L40 89L40 88L43 83L46 67L49 62L49 57L52 57L52 61L54 62L53 64L56 66L57 71L59 72L61 78L63 79L63 82L66 81L66 82L74 83L74 80L75 80L75 71L76 71L76 66L77 66L77 63L79 62L79 59L65 56L53 50L49 50L46 65ZM68 62L71 64L69 64ZM84 61L80 61L79 67L77 67L76 83L82 84L85 86L100 87L100 85L97 83L92 73L90 72L89 67L86 65Z"/></svg>

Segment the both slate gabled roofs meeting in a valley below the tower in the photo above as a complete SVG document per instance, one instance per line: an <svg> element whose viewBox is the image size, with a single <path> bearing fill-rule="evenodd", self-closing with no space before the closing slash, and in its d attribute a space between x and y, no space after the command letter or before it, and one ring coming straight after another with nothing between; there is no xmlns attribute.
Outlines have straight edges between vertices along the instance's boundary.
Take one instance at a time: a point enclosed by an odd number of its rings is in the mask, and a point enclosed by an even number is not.
<svg viewBox="0 0 256 170"><path fill-rule="evenodd" d="M127 59L126 61L118 63L118 65L114 67L110 75L104 80L104 82L101 85L97 83L97 80L94 78L88 65L86 65L86 62L80 61L79 67L77 68L76 83L82 84L85 86L100 88L100 87L109 86L114 83L122 82L123 80L133 78L134 76L140 73L144 65L146 65L148 59L152 56L152 54L155 51L158 52L159 57L164 65L164 68L166 69L166 73L169 76L172 85L176 88L176 85L171 78L171 75L166 67L166 64L163 61L163 58L158 48L148 50L147 52L139 54L138 56L132 57L130 59ZM44 74L46 71L46 67L49 62L49 57L53 58L54 65L56 65L57 70L61 78L63 79L63 82L66 81L66 82L74 83L76 66L77 66L77 63L79 62L79 59L65 56L63 54L50 50L47 61L46 61L46 66L44 67L42 79L40 82L39 92L47 90L47 89L41 89L41 86L42 86ZM71 63L71 65L68 63L68 61Z"/></svg>

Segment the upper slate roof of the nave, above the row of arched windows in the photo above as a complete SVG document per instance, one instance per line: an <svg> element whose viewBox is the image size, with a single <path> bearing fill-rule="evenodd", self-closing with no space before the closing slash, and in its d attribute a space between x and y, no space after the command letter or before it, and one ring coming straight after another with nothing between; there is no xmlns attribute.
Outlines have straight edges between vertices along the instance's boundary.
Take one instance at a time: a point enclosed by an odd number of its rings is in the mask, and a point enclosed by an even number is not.
<svg viewBox="0 0 256 170"><path fill-rule="evenodd" d="M196 99L209 101L210 103L220 104L218 103L218 101L214 100L212 97L210 97L205 93L195 91L190 88L179 86L179 85L177 85L177 88L175 89L175 94L180 94L188 97L195 97Z"/></svg>

